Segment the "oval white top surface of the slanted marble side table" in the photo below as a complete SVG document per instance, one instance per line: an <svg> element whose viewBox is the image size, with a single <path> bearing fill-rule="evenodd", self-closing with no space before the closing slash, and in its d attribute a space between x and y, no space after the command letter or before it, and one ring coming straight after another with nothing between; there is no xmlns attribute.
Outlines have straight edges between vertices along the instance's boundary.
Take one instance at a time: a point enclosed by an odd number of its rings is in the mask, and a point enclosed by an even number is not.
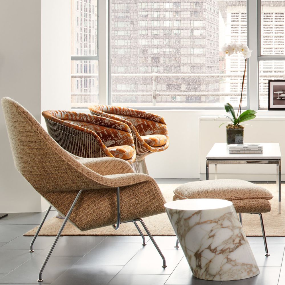
<svg viewBox="0 0 285 285"><path fill-rule="evenodd" d="M184 199L171 201L164 204L164 207L168 209L176 210L209 210L209 209L221 209L233 205L231 201L221 199Z"/></svg>

